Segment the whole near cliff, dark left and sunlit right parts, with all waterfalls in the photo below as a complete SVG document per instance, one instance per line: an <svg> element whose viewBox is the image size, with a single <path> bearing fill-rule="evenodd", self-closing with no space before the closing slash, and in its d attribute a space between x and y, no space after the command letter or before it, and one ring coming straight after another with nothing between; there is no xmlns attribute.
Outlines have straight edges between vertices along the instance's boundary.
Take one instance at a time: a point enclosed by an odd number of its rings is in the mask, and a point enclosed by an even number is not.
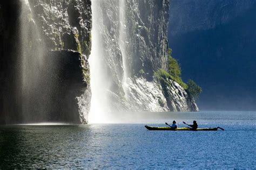
<svg viewBox="0 0 256 170"><path fill-rule="evenodd" d="M105 112L197 111L178 83L154 76L168 65L169 4L0 2L0 124L87 123L91 88Z"/></svg>

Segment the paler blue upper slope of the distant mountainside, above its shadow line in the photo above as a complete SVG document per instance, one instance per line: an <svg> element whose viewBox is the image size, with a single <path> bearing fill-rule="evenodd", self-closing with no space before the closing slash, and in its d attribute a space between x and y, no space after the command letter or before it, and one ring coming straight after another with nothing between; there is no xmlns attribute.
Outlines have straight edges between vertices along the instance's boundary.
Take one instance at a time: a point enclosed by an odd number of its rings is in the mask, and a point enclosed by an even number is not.
<svg viewBox="0 0 256 170"><path fill-rule="evenodd" d="M175 36L213 29L241 16L255 4L254 0L172 0L169 33Z"/></svg>

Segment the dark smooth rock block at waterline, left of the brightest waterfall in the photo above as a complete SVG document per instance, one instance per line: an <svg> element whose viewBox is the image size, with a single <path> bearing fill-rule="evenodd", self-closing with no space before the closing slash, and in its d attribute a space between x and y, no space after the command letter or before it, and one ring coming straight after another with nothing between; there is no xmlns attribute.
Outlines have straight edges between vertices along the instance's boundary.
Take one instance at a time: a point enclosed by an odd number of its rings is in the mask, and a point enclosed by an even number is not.
<svg viewBox="0 0 256 170"><path fill-rule="evenodd" d="M53 86L50 97L49 117L53 122L87 123L90 108L90 82L87 79L89 64L86 56L76 51L49 51L46 54L45 75L54 76L51 83L42 82L42 86ZM85 71L86 70L86 71Z"/></svg>

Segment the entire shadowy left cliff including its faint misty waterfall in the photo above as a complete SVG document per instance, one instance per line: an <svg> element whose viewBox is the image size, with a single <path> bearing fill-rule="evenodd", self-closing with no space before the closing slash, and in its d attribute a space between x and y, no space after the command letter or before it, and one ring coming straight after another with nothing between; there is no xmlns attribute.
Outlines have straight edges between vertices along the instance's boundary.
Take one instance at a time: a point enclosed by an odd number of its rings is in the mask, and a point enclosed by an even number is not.
<svg viewBox="0 0 256 170"><path fill-rule="evenodd" d="M86 123L91 1L8 1L0 13L0 123Z"/></svg>

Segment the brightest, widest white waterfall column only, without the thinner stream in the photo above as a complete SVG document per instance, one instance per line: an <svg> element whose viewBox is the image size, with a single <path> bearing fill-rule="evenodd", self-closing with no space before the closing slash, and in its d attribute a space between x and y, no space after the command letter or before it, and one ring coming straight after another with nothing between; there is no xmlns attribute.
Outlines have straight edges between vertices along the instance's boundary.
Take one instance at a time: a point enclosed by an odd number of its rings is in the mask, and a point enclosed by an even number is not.
<svg viewBox="0 0 256 170"><path fill-rule="evenodd" d="M104 111L107 111L106 89L109 88L107 74L104 72L104 53L100 39L99 22L102 19L98 12L99 1L92 1L92 48L89 58L91 74L91 109L89 112L89 122L104 122L106 120Z"/></svg>

